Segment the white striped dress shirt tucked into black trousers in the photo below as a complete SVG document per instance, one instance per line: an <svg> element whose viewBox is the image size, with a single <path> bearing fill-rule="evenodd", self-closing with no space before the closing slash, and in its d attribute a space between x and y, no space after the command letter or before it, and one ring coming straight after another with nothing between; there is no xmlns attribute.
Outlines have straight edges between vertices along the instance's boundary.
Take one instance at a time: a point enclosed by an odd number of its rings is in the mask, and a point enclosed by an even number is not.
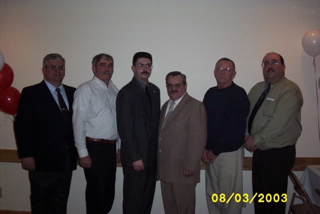
<svg viewBox="0 0 320 214"><path fill-rule="evenodd" d="M76 89L72 106L72 124L79 157L88 155L85 137L116 139L118 149L120 148L121 140L116 130L115 112L118 91L111 80L106 87L105 83L95 76Z"/></svg>

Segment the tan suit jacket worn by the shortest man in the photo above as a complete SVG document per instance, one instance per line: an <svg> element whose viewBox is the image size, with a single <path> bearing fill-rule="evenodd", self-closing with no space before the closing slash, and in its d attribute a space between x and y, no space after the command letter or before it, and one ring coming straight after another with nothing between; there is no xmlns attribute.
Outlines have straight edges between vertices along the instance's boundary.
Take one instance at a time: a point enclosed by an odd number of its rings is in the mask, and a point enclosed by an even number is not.
<svg viewBox="0 0 320 214"><path fill-rule="evenodd" d="M157 150L157 180L170 183L200 182L200 159L206 143L206 112L204 105L184 94L163 128L166 101L160 113ZM183 168L195 171L185 177Z"/></svg>

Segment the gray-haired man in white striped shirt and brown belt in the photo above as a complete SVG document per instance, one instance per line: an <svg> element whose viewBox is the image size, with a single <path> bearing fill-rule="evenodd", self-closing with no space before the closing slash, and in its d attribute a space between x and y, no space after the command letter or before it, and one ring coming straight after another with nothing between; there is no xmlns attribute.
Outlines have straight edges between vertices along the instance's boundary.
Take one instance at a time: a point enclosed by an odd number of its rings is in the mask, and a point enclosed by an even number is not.
<svg viewBox="0 0 320 214"><path fill-rule="evenodd" d="M72 123L79 164L86 180L87 214L108 213L114 200L121 141L116 130L118 89L111 81L113 67L110 55L96 55L92 59L93 79L80 85L74 93Z"/></svg>

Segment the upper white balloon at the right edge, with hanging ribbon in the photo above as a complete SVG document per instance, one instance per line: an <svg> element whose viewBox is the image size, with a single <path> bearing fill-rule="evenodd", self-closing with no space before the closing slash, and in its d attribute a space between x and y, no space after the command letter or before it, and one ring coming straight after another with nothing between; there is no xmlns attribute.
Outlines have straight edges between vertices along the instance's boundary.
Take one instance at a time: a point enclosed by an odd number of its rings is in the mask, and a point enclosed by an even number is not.
<svg viewBox="0 0 320 214"><path fill-rule="evenodd" d="M320 30L309 30L302 37L302 48L310 57L320 54Z"/></svg>

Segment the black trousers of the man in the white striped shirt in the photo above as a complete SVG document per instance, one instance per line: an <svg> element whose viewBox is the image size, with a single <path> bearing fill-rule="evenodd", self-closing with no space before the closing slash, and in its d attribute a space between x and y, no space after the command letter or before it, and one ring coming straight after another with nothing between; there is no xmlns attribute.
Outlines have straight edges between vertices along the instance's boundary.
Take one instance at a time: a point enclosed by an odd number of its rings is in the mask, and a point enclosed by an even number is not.
<svg viewBox="0 0 320 214"><path fill-rule="evenodd" d="M116 145L86 141L91 168L83 169L86 180L87 214L108 213L114 200Z"/></svg>

